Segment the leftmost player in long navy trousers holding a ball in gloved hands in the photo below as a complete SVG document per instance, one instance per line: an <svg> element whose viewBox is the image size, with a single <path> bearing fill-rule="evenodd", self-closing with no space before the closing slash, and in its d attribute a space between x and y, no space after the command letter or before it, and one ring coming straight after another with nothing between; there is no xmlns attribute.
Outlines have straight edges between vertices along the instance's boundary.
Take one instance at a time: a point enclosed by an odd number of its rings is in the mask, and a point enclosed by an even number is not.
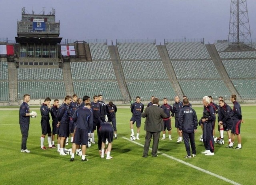
<svg viewBox="0 0 256 185"><path fill-rule="evenodd" d="M30 95L24 95L24 101L20 105L20 113L19 113L19 123L20 123L20 131L22 135L21 139L21 151L27 149L27 139L28 139L28 130L30 123L30 111L28 102L30 101Z"/></svg>

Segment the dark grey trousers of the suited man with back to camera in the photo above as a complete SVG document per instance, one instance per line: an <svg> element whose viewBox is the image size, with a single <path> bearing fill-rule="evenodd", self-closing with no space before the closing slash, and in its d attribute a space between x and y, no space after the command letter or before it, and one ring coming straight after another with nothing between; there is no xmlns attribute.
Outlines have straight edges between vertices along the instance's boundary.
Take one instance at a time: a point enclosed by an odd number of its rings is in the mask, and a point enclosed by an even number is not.
<svg viewBox="0 0 256 185"><path fill-rule="evenodd" d="M153 147L152 147L151 154L152 154L152 156L156 155L156 152L158 149L160 132L149 132L149 131L146 131L144 152L143 152L144 155L148 155L148 149L149 149L149 145L150 145L152 136L153 136Z"/></svg>

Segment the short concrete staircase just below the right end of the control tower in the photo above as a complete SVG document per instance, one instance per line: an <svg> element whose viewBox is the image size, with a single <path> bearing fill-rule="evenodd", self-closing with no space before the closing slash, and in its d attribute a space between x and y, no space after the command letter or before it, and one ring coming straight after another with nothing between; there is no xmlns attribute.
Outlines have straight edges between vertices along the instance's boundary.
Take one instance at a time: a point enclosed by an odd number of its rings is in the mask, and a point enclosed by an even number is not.
<svg viewBox="0 0 256 185"><path fill-rule="evenodd" d="M74 88L72 84L71 68L69 62L63 63L62 74L66 89L66 95L72 96L74 94Z"/></svg>

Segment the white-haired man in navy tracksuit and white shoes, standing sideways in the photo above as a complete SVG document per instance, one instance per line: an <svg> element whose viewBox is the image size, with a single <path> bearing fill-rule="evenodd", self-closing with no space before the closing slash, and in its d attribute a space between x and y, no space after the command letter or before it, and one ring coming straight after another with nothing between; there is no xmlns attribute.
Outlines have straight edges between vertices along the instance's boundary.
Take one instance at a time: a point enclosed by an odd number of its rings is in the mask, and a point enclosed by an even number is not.
<svg viewBox="0 0 256 185"><path fill-rule="evenodd" d="M204 105L203 117L200 119L200 124L203 125L203 139L204 139L204 147L205 151L202 154L205 155L214 155L214 138L212 135L212 126L213 121L216 119L215 111L210 106L210 98L208 96L204 96L202 103Z"/></svg>

